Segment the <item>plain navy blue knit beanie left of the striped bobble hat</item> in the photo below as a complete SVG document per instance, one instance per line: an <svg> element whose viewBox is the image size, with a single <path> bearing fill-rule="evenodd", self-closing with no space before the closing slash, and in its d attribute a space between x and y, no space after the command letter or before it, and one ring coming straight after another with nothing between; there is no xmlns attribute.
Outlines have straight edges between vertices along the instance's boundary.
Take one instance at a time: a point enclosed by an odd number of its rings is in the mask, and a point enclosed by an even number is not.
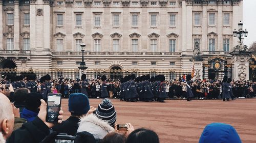
<svg viewBox="0 0 256 143"><path fill-rule="evenodd" d="M69 96L69 111L76 115L86 114L90 110L90 102L86 95L73 93Z"/></svg>

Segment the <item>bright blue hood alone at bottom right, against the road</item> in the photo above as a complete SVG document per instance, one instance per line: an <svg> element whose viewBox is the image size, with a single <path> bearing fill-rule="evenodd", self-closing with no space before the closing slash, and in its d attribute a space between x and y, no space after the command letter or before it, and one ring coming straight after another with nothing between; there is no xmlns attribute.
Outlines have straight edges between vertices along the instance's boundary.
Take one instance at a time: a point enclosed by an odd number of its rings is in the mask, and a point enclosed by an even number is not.
<svg viewBox="0 0 256 143"><path fill-rule="evenodd" d="M236 129L228 124L211 123L204 128L199 143L242 143Z"/></svg>

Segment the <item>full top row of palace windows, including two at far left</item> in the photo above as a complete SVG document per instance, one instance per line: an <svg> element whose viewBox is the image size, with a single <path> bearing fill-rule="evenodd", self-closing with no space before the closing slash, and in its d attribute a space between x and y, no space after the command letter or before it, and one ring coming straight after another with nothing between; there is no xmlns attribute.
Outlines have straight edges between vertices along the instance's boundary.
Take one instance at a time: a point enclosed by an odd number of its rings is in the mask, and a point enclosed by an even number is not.
<svg viewBox="0 0 256 143"><path fill-rule="evenodd" d="M82 14L76 14L76 26L82 26ZM151 14L151 26L157 26L157 14ZM132 26L138 26L138 14L132 14ZM120 25L120 14L113 14L113 26ZM202 23L202 16L201 13L194 13L194 25L200 26ZM208 25L216 25L216 14L209 13L209 21ZM229 25L230 21L230 14L224 13L223 14L223 25ZM13 25L14 24L14 14L7 13L7 24ZM24 25L30 24L30 14L24 13ZM169 26L176 26L177 24L177 16L176 14L169 14ZM94 15L94 25L101 26L101 14ZM57 14L57 26L63 26L63 14Z"/></svg>

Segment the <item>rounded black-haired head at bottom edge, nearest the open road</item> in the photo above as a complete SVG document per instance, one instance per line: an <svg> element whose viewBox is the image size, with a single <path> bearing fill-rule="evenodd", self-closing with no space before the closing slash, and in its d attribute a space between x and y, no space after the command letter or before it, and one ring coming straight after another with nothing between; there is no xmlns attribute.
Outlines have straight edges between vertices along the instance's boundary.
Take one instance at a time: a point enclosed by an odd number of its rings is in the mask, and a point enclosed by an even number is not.
<svg viewBox="0 0 256 143"><path fill-rule="evenodd" d="M159 143L159 137L152 130L139 128L127 137L125 143Z"/></svg>

